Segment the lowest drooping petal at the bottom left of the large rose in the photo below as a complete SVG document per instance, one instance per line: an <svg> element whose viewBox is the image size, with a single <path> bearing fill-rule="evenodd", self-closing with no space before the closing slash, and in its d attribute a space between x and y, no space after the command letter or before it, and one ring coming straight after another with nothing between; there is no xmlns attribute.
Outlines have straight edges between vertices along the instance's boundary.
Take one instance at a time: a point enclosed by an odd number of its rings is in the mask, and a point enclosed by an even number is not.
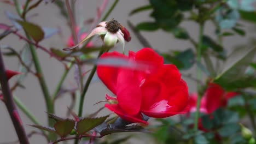
<svg viewBox="0 0 256 144"><path fill-rule="evenodd" d="M142 120L142 116L140 113L138 113L137 115L127 115L127 113L124 112L118 104L105 104L105 107L107 107L110 111L113 111L119 117L125 119L126 121L148 124L148 122Z"/></svg>

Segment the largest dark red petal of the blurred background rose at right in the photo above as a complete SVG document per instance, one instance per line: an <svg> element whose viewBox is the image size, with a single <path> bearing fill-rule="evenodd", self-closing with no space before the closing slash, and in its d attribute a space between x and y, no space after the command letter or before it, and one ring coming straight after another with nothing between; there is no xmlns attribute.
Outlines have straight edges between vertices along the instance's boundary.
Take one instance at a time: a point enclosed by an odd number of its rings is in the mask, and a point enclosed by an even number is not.
<svg viewBox="0 0 256 144"><path fill-rule="evenodd" d="M210 83L203 97L206 98L206 108L209 113L217 110L222 106L224 89L219 85Z"/></svg>

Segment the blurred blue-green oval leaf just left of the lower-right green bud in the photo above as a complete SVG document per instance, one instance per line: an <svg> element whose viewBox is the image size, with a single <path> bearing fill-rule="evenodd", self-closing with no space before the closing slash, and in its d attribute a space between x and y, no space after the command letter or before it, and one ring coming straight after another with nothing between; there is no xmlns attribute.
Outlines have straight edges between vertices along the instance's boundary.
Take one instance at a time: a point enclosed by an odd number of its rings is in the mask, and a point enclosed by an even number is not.
<svg viewBox="0 0 256 144"><path fill-rule="evenodd" d="M236 123L226 124L222 128L218 129L218 134L222 137L227 137L235 134L240 130L240 125Z"/></svg>

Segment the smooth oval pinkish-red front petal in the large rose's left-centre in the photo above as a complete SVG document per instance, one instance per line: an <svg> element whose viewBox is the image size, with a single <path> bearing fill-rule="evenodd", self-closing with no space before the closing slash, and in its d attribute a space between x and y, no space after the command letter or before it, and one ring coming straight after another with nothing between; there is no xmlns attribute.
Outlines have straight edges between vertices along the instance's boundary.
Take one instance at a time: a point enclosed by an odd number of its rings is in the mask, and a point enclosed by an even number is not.
<svg viewBox="0 0 256 144"><path fill-rule="evenodd" d="M119 106L128 114L136 115L141 109L142 94L140 81L129 69L119 69L117 78L117 100Z"/></svg>

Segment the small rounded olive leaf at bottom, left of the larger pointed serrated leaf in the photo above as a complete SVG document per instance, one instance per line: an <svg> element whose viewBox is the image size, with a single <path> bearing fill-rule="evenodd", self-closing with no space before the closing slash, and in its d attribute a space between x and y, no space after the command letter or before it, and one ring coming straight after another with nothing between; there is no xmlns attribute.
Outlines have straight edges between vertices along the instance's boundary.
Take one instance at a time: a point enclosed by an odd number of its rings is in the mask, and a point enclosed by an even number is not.
<svg viewBox="0 0 256 144"><path fill-rule="evenodd" d="M67 136L74 129L75 121L72 119L65 119L65 121L59 121L54 124L56 133L61 137Z"/></svg>

